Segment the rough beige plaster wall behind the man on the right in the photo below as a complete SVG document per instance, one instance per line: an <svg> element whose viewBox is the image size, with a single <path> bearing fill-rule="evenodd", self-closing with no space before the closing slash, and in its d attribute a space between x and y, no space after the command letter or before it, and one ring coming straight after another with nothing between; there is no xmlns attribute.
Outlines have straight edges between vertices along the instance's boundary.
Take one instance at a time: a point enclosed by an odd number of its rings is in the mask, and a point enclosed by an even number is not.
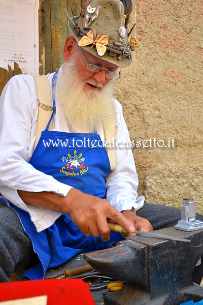
<svg viewBox="0 0 203 305"><path fill-rule="evenodd" d="M130 138L152 139L133 148L139 194L178 207L193 197L203 213L203 1L132 1L139 45L115 91Z"/></svg>

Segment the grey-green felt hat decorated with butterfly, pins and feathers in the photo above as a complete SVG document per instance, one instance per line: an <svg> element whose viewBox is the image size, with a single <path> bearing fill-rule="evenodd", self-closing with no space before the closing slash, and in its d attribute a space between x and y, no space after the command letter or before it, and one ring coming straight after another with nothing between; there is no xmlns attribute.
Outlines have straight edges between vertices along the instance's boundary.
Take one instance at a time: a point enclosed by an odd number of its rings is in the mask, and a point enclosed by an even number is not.
<svg viewBox="0 0 203 305"><path fill-rule="evenodd" d="M93 0L88 6L82 1L80 16L75 16L73 11L73 17L68 16L69 27L86 51L119 67L127 67L137 44L128 37L131 11L131 0Z"/></svg>

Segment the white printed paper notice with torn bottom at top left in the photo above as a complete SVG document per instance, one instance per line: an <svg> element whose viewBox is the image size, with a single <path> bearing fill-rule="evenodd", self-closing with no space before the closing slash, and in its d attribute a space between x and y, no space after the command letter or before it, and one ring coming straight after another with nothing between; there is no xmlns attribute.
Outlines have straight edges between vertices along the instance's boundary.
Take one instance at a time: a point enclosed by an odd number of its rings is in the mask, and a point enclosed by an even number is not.
<svg viewBox="0 0 203 305"><path fill-rule="evenodd" d="M0 68L39 74L39 0L0 0Z"/></svg>

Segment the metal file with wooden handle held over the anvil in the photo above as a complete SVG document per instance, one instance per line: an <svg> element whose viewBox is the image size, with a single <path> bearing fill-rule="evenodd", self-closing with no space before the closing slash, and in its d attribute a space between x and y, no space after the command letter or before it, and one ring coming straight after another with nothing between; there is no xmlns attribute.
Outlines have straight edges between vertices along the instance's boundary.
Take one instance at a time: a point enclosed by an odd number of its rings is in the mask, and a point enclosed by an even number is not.
<svg viewBox="0 0 203 305"><path fill-rule="evenodd" d="M118 232L118 233L121 233L121 234L128 234L129 233L123 227L121 227L120 225L113 224L113 223L108 223L108 225L109 225L109 228L110 228L111 231L115 231L115 232ZM136 233L140 236L144 236L144 237L190 242L189 239L184 239L184 238L175 237L175 236L169 236L169 235L165 235L165 234L157 234L155 231L145 232L145 231L134 230L134 233Z"/></svg>

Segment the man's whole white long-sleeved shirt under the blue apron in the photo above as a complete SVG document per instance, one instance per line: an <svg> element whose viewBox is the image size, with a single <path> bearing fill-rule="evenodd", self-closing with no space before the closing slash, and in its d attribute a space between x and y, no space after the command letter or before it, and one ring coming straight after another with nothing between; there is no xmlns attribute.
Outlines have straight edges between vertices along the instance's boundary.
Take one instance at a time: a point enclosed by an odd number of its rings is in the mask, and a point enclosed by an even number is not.
<svg viewBox="0 0 203 305"><path fill-rule="evenodd" d="M50 86L54 73L48 74ZM129 143L129 134L122 115L122 107L116 104L116 133L118 143ZM53 130L69 130L66 120L56 101ZM32 76L17 75L5 86L0 99L0 193L19 208L27 211L38 232L50 227L60 217L59 212L25 204L17 190L28 192L53 192L66 196L72 188L52 176L44 174L30 165L29 159L34 150L38 120L38 96ZM75 132L75 131L74 131ZM105 141L104 130L97 130ZM119 144L120 145L120 144ZM116 170L106 179L107 200L118 210L134 207L140 209L144 197L138 198L138 176L131 148L117 148Z"/></svg>

